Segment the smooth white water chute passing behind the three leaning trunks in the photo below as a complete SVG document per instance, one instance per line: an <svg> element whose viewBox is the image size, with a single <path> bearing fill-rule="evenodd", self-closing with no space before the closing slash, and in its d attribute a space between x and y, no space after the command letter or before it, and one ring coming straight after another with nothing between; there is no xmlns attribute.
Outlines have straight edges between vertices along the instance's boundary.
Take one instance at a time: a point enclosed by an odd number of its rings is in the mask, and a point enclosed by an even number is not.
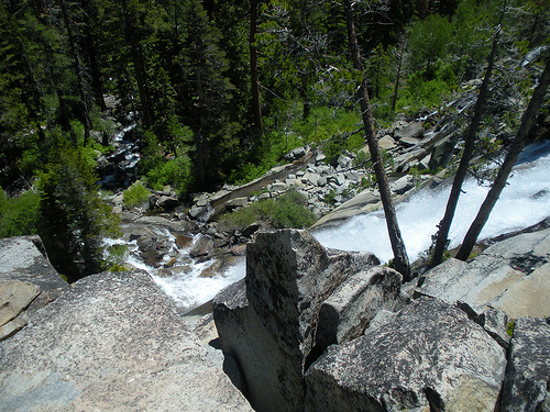
<svg viewBox="0 0 550 412"><path fill-rule="evenodd" d="M431 244L444 214L450 186L425 189L396 205L397 220L410 261ZM488 191L468 180L451 225L450 247L462 242ZM520 230L550 216L550 142L534 144L521 154L480 240ZM367 250L386 263L393 257L382 211L349 219L338 227L314 233L326 247Z"/></svg>

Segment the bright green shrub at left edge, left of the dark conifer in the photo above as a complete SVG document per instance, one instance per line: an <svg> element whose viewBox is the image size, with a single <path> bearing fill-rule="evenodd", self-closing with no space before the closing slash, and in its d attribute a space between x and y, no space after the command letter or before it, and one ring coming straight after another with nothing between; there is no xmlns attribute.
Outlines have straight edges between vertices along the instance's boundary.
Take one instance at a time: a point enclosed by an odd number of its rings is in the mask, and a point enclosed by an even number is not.
<svg viewBox="0 0 550 412"><path fill-rule="evenodd" d="M0 237L37 233L40 196L28 190L18 198L8 198L0 188Z"/></svg>

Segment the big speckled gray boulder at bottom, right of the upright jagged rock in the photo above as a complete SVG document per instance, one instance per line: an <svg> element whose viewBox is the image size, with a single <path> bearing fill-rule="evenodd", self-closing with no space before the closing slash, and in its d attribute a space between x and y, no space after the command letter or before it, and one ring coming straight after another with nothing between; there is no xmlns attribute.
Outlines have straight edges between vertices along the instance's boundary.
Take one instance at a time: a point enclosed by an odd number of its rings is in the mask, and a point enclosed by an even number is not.
<svg viewBox="0 0 550 412"><path fill-rule="evenodd" d="M465 313L421 298L393 320L330 346L306 374L306 411L487 411L504 349Z"/></svg>

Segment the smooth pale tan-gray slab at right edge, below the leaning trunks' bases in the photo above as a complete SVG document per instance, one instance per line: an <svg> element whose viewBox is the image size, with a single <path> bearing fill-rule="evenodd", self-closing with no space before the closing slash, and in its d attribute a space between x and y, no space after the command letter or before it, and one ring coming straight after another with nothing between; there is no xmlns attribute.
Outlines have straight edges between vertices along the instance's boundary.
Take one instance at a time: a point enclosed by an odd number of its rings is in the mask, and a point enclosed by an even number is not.
<svg viewBox="0 0 550 412"><path fill-rule="evenodd" d="M416 296L493 308L512 319L550 316L550 229L498 242L469 264L448 259L420 283Z"/></svg>

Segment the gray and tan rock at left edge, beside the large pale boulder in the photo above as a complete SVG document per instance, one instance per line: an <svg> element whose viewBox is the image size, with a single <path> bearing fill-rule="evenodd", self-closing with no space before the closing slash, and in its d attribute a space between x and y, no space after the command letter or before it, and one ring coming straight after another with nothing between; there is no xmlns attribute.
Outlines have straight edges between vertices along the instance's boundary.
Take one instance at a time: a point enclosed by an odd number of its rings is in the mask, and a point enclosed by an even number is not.
<svg viewBox="0 0 550 412"><path fill-rule="evenodd" d="M38 236L0 240L0 341L69 289L43 254Z"/></svg>

